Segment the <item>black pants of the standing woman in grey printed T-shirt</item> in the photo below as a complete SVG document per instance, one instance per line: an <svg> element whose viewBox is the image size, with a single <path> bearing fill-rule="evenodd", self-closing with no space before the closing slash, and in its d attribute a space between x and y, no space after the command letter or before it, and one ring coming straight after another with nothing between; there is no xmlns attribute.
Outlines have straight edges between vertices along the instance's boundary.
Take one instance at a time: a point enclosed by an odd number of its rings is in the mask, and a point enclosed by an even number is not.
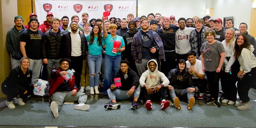
<svg viewBox="0 0 256 128"><path fill-rule="evenodd" d="M214 100L218 100L220 73L217 73L216 71L206 71L205 74L208 79L211 98L214 98Z"/></svg>

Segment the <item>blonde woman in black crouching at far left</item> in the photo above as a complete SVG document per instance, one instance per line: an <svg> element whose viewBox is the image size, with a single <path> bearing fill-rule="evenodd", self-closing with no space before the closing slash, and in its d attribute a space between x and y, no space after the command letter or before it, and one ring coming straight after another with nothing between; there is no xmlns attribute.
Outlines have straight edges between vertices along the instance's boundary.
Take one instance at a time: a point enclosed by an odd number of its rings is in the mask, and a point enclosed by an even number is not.
<svg viewBox="0 0 256 128"><path fill-rule="evenodd" d="M6 106L14 109L13 100L18 105L25 105L22 98L28 98L33 93L31 85L32 70L29 69L30 60L28 57L20 59L20 65L12 69L9 76L2 83L2 92L6 94Z"/></svg>

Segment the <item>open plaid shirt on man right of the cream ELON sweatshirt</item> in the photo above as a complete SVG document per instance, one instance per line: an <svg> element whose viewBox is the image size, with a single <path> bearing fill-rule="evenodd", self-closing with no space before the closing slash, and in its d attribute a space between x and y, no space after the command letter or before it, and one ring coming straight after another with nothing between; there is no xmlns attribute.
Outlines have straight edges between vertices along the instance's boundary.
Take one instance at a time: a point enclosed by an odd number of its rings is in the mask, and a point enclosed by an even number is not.
<svg viewBox="0 0 256 128"><path fill-rule="evenodd" d="M201 34L201 38L202 38L202 42L201 42L201 46L204 42L206 42L206 37L205 37L205 30L206 28L202 28L202 34ZM198 40L197 40L197 34L196 34L196 29L194 31L191 32L190 34L190 45L191 45L191 51L196 52L196 58L198 58L200 56L200 53L198 53L198 51L200 51L200 48L198 48Z"/></svg>

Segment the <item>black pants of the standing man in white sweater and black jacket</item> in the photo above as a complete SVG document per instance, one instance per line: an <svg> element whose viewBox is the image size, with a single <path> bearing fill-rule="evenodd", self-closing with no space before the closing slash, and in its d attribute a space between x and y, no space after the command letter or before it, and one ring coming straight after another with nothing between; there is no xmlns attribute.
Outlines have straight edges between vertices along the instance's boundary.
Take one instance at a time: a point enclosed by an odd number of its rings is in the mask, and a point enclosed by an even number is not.
<svg viewBox="0 0 256 128"><path fill-rule="evenodd" d="M80 80L81 80L81 74L82 74L82 68L83 68L83 59L82 56L71 56L70 57L71 63L69 64L69 69L75 70L75 82L77 85L77 88L80 87Z"/></svg>

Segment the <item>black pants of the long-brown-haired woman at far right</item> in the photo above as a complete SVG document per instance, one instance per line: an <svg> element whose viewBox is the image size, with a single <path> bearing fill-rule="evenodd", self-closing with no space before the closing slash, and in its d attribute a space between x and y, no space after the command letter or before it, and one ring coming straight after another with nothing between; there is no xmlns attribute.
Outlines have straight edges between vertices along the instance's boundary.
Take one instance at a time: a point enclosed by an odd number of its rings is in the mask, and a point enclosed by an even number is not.
<svg viewBox="0 0 256 128"><path fill-rule="evenodd" d="M242 102L248 102L250 101L250 98L248 96L248 91L250 88L255 88L255 76L256 76L256 67L252 68L250 72L247 72L242 79L238 79L237 82L237 91L238 96L240 97L240 100Z"/></svg>

